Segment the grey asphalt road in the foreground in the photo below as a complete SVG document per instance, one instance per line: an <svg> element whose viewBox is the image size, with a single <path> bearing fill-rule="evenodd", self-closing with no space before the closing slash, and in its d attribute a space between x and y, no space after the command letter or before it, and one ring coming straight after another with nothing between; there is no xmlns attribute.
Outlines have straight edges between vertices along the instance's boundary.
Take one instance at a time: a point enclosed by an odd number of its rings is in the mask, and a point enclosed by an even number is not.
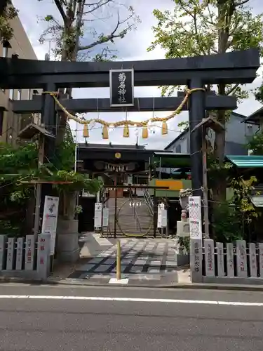
<svg viewBox="0 0 263 351"><path fill-rule="evenodd" d="M263 293L0 286L4 351L262 351L262 321Z"/></svg>

